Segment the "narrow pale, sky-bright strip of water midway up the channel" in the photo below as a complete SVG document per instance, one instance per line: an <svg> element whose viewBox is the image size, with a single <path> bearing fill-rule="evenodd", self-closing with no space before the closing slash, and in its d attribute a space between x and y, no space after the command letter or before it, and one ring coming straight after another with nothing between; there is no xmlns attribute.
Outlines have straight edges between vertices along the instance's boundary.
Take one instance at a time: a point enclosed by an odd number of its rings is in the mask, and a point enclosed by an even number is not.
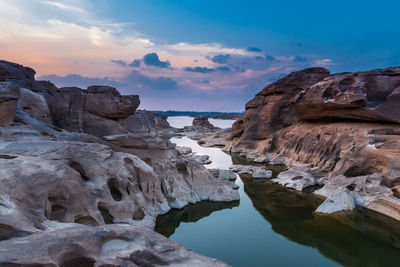
<svg viewBox="0 0 400 267"><path fill-rule="evenodd" d="M202 147L196 141L184 136L182 138L171 138L171 142L178 146L188 146L197 155L208 155L212 160L211 164L206 165L207 168L218 168L227 170L232 165L232 158L230 155L224 153L219 148Z"/></svg>

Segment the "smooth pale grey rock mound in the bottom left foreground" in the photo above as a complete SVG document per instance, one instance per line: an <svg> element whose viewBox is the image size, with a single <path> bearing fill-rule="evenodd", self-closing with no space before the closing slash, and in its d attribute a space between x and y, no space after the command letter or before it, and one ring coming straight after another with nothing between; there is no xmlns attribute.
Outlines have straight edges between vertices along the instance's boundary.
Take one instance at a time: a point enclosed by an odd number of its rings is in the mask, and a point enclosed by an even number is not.
<svg viewBox="0 0 400 267"><path fill-rule="evenodd" d="M0 242L4 266L227 266L200 256L148 228L60 225Z"/></svg>

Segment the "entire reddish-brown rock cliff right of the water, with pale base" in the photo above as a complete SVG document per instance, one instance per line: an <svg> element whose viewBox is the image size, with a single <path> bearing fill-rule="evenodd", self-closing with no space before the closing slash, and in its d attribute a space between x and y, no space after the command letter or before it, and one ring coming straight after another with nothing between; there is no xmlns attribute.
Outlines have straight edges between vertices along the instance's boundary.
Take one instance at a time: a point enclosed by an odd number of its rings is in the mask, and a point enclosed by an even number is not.
<svg viewBox="0 0 400 267"><path fill-rule="evenodd" d="M400 220L399 90L400 68L294 72L247 103L225 149L271 164L302 166L301 172L288 170L275 181L298 190L319 189L316 193L327 197L321 213L360 205Z"/></svg>

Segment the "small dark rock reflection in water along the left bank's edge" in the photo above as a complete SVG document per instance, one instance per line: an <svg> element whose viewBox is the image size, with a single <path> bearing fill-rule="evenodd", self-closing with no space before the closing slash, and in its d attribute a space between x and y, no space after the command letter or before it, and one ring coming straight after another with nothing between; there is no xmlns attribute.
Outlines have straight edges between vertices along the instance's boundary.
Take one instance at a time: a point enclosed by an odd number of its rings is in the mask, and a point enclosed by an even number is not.
<svg viewBox="0 0 400 267"><path fill-rule="evenodd" d="M232 209L237 206L239 206L239 201L202 201L196 204L187 205L183 209L172 209L168 213L157 217L155 231L166 237L170 237L181 222L197 222L198 220L209 216L214 211Z"/></svg>

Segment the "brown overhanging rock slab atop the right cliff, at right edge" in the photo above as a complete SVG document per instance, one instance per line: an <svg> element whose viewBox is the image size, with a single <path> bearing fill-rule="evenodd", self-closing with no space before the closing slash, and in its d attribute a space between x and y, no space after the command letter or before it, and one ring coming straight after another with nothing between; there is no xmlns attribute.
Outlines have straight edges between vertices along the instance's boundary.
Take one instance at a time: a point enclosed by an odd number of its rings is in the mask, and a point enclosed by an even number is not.
<svg viewBox="0 0 400 267"><path fill-rule="evenodd" d="M331 75L296 99L299 120L400 122L400 68Z"/></svg>

